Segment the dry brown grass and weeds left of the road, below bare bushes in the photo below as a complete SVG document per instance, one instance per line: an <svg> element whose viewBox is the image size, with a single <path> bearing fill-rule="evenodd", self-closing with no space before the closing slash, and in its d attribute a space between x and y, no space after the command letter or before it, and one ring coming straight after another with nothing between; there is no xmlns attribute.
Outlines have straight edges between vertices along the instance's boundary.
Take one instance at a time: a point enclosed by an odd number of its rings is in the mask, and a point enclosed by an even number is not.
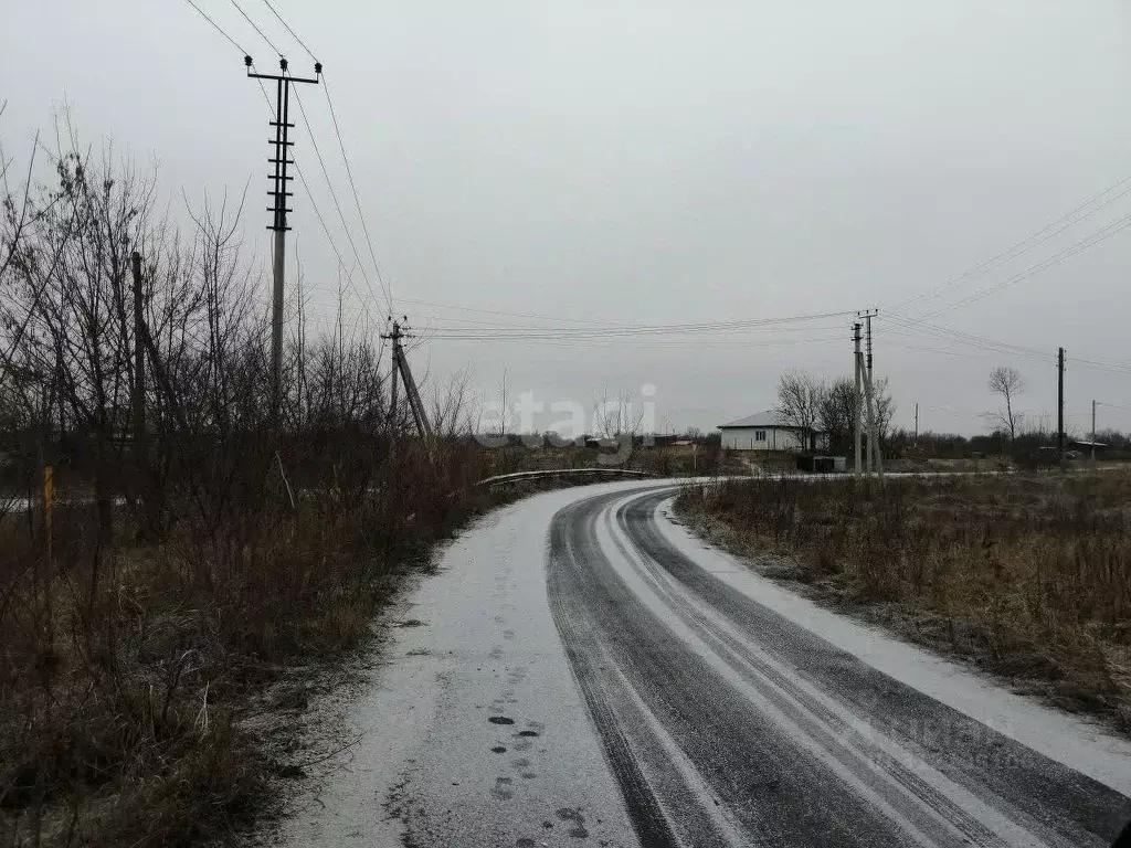
<svg viewBox="0 0 1131 848"><path fill-rule="evenodd" d="M466 485L492 461L403 456L402 484L349 508L270 497L250 533L181 521L141 545L123 514L102 551L93 505L60 509L50 568L26 523L0 520L0 845L193 845L248 827L278 769L249 729L270 684L362 646L437 539L517 496Z"/></svg>

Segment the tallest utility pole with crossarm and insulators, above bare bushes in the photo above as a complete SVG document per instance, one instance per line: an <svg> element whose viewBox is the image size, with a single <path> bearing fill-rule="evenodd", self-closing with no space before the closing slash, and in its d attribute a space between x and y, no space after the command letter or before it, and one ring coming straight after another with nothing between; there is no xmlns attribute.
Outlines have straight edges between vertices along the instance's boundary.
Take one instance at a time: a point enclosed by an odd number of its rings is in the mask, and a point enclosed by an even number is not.
<svg viewBox="0 0 1131 848"><path fill-rule="evenodd" d="M275 128L275 139L268 140L274 148L275 156L267 159L275 166L275 170L267 179L271 181L271 190L267 192L275 202L267 207L267 211L273 214L271 225L267 227L274 231L274 244L271 251L271 422L278 425L279 414L283 404L283 277L286 270L286 215L293 209L287 208L286 199L294 197L293 191L287 191L287 183L294 178L287 173L287 166L294 164L291 158L290 148L294 141L288 138L288 130L294 127L287 118L291 103L291 85L294 83L310 83L318 85L322 73L322 63L314 62L314 79L292 77L286 72L286 59L279 59L279 69L283 73L254 73L251 70L251 57L243 57L243 63L248 68L248 76L251 79L274 79L276 83L275 95L275 120L269 126Z"/></svg>

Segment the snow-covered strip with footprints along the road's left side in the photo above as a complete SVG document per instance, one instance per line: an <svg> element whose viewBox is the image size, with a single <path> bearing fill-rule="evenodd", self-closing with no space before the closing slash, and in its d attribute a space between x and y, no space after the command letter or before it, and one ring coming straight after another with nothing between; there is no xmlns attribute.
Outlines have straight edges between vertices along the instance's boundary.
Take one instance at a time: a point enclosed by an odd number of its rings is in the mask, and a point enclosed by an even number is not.
<svg viewBox="0 0 1131 848"><path fill-rule="evenodd" d="M413 843L538 845L568 810L595 839L634 846L550 613L546 538L576 500L655 485L534 495L440 551L438 573L385 616L402 626L348 709L357 743L277 843L400 848L407 822Z"/></svg>

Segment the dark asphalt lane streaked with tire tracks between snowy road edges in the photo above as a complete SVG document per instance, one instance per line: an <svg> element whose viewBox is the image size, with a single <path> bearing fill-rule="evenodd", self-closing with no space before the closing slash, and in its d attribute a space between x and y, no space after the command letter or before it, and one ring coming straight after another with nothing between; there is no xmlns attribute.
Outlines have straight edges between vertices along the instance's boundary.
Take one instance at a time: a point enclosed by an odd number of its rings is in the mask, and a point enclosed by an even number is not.
<svg viewBox="0 0 1131 848"><path fill-rule="evenodd" d="M699 568L656 523L670 495L550 531L551 608L644 845L1106 846L1131 816Z"/></svg>

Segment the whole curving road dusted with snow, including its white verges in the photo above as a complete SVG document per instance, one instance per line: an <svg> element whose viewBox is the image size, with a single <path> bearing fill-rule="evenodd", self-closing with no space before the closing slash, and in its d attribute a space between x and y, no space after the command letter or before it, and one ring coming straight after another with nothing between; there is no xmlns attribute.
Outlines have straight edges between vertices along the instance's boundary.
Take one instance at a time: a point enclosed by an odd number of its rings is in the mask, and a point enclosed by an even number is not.
<svg viewBox="0 0 1131 848"><path fill-rule="evenodd" d="M1131 745L798 598L655 483L443 554L292 845L1106 846Z"/></svg>

